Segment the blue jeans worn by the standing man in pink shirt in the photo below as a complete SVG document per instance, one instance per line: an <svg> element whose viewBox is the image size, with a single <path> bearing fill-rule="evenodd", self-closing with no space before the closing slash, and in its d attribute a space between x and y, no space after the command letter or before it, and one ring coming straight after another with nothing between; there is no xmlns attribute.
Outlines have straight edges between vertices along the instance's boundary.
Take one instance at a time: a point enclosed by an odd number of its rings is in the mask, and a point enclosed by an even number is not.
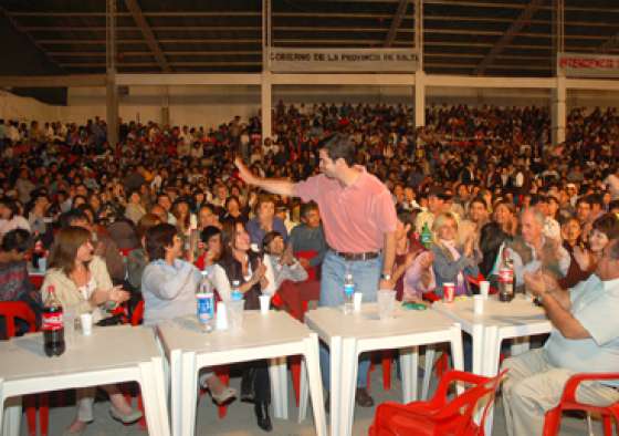
<svg viewBox="0 0 619 436"><path fill-rule="evenodd" d="M376 291L382 269L382 256L370 260L347 261L332 250L327 251L323 260L321 279L321 307L337 307L344 304L344 276L346 268L353 273L355 280L355 292L364 294L364 302L376 301ZM364 353L359 357L359 371L357 373L357 387L367 387L367 373L369 368L369 356ZM323 385L331 388L331 360L328 347L321 343L321 370Z"/></svg>

